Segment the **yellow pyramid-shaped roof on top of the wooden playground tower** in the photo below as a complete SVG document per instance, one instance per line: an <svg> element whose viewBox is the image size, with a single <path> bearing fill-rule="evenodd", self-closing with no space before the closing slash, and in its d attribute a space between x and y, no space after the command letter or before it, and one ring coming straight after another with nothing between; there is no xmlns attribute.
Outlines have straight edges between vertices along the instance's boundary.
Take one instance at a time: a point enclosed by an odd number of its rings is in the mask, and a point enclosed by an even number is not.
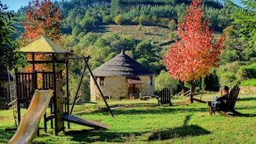
<svg viewBox="0 0 256 144"><path fill-rule="evenodd" d="M58 44L44 36L39 36L31 42L27 43L20 49L22 52L27 53L70 53L63 49Z"/></svg>

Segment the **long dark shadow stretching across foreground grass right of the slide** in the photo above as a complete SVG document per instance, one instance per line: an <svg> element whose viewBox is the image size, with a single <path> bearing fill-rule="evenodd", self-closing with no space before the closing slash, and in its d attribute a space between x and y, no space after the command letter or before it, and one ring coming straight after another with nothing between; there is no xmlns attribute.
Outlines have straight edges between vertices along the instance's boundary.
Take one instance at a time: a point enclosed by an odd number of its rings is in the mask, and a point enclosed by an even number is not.
<svg viewBox="0 0 256 144"><path fill-rule="evenodd" d="M157 132L146 131L143 133L110 133L102 130L78 130L68 131L65 135L72 137L72 140L77 142L110 142L110 143L125 143L129 139L136 139L136 137L143 137L151 135L147 139L153 140L169 140L173 138L184 138L186 136L207 135L210 132L198 125L188 125L191 115L187 115L184 120L184 125L179 128L169 128L167 130L160 130Z"/></svg>

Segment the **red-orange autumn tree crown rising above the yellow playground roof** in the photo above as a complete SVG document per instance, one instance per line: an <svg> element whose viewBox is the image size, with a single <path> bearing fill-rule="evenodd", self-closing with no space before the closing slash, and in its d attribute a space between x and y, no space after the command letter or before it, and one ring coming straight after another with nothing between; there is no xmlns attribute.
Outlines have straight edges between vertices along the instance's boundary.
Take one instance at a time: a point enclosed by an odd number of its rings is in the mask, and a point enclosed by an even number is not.
<svg viewBox="0 0 256 144"><path fill-rule="evenodd" d="M55 42L60 39L61 11L50 0L29 1L26 15L27 20L23 22L25 33L22 35L25 42L40 35Z"/></svg>

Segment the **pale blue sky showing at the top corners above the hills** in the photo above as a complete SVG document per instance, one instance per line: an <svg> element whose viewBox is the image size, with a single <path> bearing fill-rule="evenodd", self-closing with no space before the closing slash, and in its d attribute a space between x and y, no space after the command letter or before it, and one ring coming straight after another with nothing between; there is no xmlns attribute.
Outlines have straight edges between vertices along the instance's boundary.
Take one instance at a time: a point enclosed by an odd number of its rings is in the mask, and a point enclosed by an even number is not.
<svg viewBox="0 0 256 144"><path fill-rule="evenodd" d="M6 4L9 8L8 10L14 10L17 11L22 6L28 6L29 1L32 0L0 0L2 4ZM53 1L61 1L61 0L53 0ZM222 0L219 0L222 1ZM232 0L234 4L240 5L241 0Z"/></svg>

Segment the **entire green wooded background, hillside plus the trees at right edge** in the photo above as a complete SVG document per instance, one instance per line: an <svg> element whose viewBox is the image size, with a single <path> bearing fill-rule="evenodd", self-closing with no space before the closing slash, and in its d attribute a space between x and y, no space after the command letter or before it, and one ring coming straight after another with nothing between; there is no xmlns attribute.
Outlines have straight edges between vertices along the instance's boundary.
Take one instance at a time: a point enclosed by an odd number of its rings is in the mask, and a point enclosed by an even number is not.
<svg viewBox="0 0 256 144"><path fill-rule="evenodd" d="M72 50L76 56L90 55L92 69L124 49L126 54L157 73L156 91L171 87L176 92L180 88L177 87L178 81L167 74L163 55L177 38L177 24L184 21L186 6L190 3L189 0L55 1L62 14L59 44ZM240 8L210 0L202 0L202 6L203 18L208 19L208 27L214 29L214 37L224 32L226 40L225 49L219 56L219 67L196 81L196 89L214 90L215 86L237 82L255 85L252 84L256 78L255 49L248 46L247 39L240 39L237 30L241 27L234 23L232 16ZM22 39L27 9L29 6L12 11L18 19L14 24L16 32L13 39ZM72 93L75 93L82 67L82 62L71 63ZM89 90L89 79L85 77L82 85L84 100L88 100Z"/></svg>

